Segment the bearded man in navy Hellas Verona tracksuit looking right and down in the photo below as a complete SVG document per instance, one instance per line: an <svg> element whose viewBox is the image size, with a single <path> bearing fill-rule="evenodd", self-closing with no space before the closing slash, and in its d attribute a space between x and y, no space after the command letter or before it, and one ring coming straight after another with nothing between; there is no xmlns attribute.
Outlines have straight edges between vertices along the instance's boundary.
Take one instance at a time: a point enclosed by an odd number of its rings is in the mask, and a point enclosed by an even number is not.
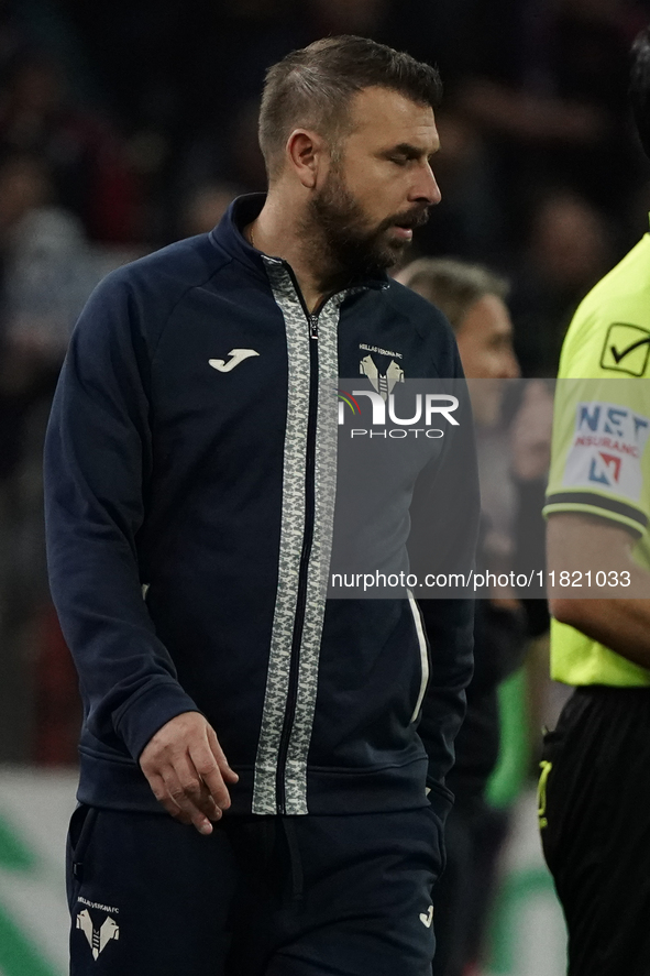
<svg viewBox="0 0 650 976"><path fill-rule="evenodd" d="M370 357L390 382L462 376L445 320L385 274L440 197L439 88L365 39L290 54L261 109L267 197L110 275L77 326L46 446L86 716L75 976L100 956L139 976L430 972L471 604L440 601L429 658L412 594L327 600L322 580L339 375ZM448 468L470 552L474 470ZM433 520L437 471L401 479L398 551L411 496Z"/></svg>

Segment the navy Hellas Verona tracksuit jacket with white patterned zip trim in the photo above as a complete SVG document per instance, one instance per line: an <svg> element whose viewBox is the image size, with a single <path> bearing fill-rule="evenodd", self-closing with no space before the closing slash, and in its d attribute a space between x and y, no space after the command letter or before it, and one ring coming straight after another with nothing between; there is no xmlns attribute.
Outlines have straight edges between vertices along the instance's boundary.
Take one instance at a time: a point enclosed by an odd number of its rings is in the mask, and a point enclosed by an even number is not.
<svg viewBox="0 0 650 976"><path fill-rule="evenodd" d="M385 372L385 353L409 379L462 376L455 343L387 278L308 315L290 267L242 237L262 202L110 274L71 339L45 473L52 593L85 705L78 797L158 811L137 758L198 710L240 776L229 815L415 809L428 787L443 819L472 606L428 601L428 649L412 599L326 600L323 459L339 376L367 357ZM448 454L450 498L469 502L429 515L462 518L471 540L475 475ZM399 547L427 476L399 487Z"/></svg>

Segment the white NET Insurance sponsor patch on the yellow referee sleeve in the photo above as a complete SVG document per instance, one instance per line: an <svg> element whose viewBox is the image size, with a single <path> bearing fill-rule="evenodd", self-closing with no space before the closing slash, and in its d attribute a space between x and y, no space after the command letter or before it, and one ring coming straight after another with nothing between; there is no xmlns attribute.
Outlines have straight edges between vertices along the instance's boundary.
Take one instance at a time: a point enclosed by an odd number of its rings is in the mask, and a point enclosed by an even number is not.
<svg viewBox="0 0 650 976"><path fill-rule="evenodd" d="M649 435L650 419L629 407L603 401L577 404L562 484L605 491L638 503L643 486L641 458Z"/></svg>

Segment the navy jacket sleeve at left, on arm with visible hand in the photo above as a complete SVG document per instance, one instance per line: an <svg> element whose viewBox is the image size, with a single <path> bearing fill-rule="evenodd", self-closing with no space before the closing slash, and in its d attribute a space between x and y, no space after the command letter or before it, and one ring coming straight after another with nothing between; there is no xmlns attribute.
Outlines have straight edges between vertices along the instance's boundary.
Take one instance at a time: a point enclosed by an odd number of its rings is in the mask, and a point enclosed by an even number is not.
<svg viewBox="0 0 650 976"><path fill-rule="evenodd" d="M169 719L198 711L156 637L139 573L152 471L141 317L123 272L95 290L73 335L45 442L49 582L87 725L133 759Z"/></svg>

